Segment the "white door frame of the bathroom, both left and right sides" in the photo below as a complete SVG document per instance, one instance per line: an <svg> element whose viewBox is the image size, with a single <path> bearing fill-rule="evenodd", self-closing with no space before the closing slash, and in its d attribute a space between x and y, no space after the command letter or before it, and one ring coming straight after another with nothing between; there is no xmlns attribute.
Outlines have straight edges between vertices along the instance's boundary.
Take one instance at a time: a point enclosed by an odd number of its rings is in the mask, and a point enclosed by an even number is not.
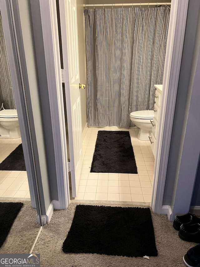
<svg viewBox="0 0 200 267"><path fill-rule="evenodd" d="M66 139L64 109L61 88L61 74L59 72L59 40L57 27L56 6L53 0L39 0L42 19L44 50L47 65L47 79L49 85L49 100L52 106L53 138L60 140L62 146L55 146L56 167L61 170L57 176L60 208L67 208L69 203L69 183L66 181ZM157 157L155 159L155 173L151 207L155 213L169 213L163 208L163 194L167 172L169 147L171 141L173 117L178 89L183 41L186 27L188 0L172 0L168 30L168 42L163 77L163 100L159 125ZM55 27L52 27L54 25ZM56 90L55 90L56 89ZM59 100L59 101L58 101ZM59 143L59 141L58 141ZM63 159L62 159L63 157ZM68 175L68 174L67 174ZM56 208L56 207L54 207Z"/></svg>

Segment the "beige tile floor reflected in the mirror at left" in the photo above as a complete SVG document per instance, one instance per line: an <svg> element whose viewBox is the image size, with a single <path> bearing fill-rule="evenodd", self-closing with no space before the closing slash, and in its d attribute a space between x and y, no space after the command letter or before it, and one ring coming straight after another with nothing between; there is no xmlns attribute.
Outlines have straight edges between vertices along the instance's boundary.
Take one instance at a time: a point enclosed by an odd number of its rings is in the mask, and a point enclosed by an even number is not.
<svg viewBox="0 0 200 267"><path fill-rule="evenodd" d="M0 139L0 163L21 143L21 138ZM0 199L2 198L30 198L26 171L0 170Z"/></svg>

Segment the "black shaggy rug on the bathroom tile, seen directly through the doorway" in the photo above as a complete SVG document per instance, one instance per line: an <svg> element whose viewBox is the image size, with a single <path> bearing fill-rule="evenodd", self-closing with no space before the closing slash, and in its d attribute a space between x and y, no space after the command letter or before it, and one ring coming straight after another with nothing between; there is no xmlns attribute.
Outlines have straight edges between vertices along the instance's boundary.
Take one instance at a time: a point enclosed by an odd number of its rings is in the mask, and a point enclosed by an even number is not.
<svg viewBox="0 0 200 267"><path fill-rule="evenodd" d="M98 131L90 172L138 173L129 131Z"/></svg>

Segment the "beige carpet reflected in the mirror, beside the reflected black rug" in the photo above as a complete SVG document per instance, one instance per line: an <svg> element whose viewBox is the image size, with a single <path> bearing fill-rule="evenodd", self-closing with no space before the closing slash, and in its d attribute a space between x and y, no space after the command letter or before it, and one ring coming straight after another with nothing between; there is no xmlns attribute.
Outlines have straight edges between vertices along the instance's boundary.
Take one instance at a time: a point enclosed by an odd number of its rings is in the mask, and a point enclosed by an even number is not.
<svg viewBox="0 0 200 267"><path fill-rule="evenodd" d="M18 202L23 202L23 206L0 248L0 253L29 253L37 237L40 227L36 222L36 209L31 208L30 201Z"/></svg>

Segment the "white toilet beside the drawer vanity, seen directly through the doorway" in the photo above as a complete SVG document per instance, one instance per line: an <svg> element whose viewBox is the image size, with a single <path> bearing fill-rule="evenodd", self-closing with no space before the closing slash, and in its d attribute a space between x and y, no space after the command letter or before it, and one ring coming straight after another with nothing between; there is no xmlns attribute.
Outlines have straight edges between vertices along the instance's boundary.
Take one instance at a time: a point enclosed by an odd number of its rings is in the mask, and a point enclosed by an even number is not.
<svg viewBox="0 0 200 267"><path fill-rule="evenodd" d="M149 140L152 133L152 123L154 112L153 110L139 110L131 112L130 119L133 123L140 128L138 133L139 140Z"/></svg>

